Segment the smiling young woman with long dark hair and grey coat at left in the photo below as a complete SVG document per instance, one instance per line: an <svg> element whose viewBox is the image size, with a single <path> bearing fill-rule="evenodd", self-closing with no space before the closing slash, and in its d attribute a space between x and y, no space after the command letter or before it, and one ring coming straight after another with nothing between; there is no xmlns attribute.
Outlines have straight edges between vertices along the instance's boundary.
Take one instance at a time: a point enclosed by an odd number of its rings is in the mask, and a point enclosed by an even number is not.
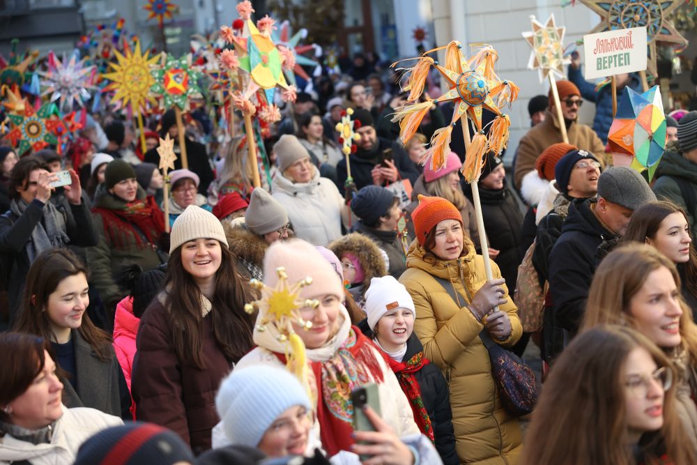
<svg viewBox="0 0 697 465"><path fill-rule="evenodd" d="M43 337L56 353L63 404L132 418L131 399L112 338L89 319L87 268L65 249L47 250L26 277L15 330Z"/></svg>

